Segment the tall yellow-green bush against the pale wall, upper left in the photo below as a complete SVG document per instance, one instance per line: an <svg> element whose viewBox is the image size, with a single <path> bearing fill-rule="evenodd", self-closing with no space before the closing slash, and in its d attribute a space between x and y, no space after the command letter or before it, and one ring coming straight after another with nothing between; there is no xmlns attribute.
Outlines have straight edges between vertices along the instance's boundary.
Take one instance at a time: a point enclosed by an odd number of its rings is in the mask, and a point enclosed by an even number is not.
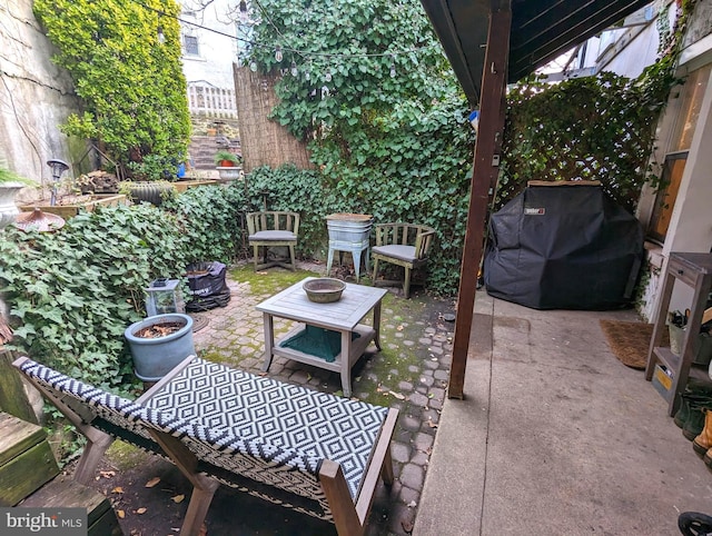
<svg viewBox="0 0 712 536"><path fill-rule="evenodd" d="M36 0L33 10L85 105L62 131L93 140L120 171L152 155L175 176L190 136L178 3Z"/></svg>

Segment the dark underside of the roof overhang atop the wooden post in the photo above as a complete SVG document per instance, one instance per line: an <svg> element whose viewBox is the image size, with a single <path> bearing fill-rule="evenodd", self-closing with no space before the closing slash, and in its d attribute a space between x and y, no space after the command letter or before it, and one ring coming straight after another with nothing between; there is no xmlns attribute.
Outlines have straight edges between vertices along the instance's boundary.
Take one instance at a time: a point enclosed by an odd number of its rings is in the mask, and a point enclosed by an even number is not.
<svg viewBox="0 0 712 536"><path fill-rule="evenodd" d="M650 0L421 0L471 106L479 101L490 13L512 10L507 82L621 22Z"/></svg>

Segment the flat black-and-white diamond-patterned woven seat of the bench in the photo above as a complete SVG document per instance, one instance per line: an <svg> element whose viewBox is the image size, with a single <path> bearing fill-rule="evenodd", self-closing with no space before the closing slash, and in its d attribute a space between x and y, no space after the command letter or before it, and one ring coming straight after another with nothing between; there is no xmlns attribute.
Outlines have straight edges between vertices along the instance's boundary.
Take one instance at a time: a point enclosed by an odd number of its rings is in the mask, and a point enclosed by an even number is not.
<svg viewBox="0 0 712 536"><path fill-rule="evenodd" d="M269 445L285 449L290 456L299 453L298 458L289 459L289 465L301 470L317 474L320 460L336 461L354 498L388 413L385 407L284 384L199 358L146 404L172 411L180 419L199 421L216 437L225 434L260 448ZM207 443L220 448L226 445L211 438ZM218 454L205 453L205 456L212 456L214 463L221 467L229 464ZM264 456L269 458L267 453Z"/></svg>

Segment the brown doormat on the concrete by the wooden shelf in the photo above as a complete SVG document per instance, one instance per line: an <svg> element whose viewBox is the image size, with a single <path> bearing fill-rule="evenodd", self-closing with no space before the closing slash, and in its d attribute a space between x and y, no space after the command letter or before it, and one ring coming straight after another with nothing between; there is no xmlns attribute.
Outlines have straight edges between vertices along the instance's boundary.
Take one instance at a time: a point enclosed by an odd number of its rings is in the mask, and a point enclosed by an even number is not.
<svg viewBox="0 0 712 536"><path fill-rule="evenodd" d="M647 364L647 349L653 336L653 325L620 320L600 320L600 322L609 347L615 357L627 367L644 369ZM665 329L661 346L669 345L670 335Z"/></svg>

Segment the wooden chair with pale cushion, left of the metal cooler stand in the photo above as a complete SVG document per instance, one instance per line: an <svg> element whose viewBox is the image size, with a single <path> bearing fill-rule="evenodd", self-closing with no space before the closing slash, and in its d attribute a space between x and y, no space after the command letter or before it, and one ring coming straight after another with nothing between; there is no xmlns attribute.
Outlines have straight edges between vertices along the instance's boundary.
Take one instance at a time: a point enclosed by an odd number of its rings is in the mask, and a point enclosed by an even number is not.
<svg viewBox="0 0 712 536"><path fill-rule="evenodd" d="M249 245L253 246L255 271L271 266L296 269L294 248L299 234L299 215L286 211L250 212L247 215ZM289 262L286 258L267 260L269 248L289 248ZM263 262L259 264L259 248L264 248Z"/></svg>

